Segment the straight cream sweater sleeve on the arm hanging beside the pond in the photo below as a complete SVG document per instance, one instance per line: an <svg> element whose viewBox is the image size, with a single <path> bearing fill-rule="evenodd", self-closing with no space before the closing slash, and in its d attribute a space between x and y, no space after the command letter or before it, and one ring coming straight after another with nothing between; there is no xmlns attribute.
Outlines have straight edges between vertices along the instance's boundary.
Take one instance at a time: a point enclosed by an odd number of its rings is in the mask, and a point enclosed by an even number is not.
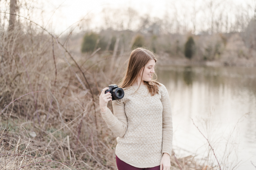
<svg viewBox="0 0 256 170"><path fill-rule="evenodd" d="M162 154L168 153L172 155L172 110L171 101L166 87L162 84L161 102L163 104L163 148Z"/></svg>

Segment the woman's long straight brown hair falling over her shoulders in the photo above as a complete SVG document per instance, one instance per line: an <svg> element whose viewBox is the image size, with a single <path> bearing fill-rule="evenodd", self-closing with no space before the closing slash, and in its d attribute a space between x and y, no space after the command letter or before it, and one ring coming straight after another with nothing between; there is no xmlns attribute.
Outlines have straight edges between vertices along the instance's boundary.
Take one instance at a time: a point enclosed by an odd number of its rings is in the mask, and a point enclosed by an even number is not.
<svg viewBox="0 0 256 170"><path fill-rule="evenodd" d="M143 71L142 71L142 75L143 75L146 64L148 63L149 60L152 60L152 59L155 60L155 62L157 61L156 55L147 49L136 48L135 50L133 50L129 58L128 67L125 71L124 79L118 85L118 87L123 89L131 88L131 86L138 79L140 70L143 68ZM160 84L159 82L156 81L156 79L157 79L157 75L156 73L154 73L151 81L144 81L145 85L147 85L148 87L148 91L150 92L151 96L158 94L157 85L160 86ZM142 76L141 76L140 84L141 82L142 82ZM140 85L139 85L139 88L140 88ZM137 92L138 89L135 92Z"/></svg>

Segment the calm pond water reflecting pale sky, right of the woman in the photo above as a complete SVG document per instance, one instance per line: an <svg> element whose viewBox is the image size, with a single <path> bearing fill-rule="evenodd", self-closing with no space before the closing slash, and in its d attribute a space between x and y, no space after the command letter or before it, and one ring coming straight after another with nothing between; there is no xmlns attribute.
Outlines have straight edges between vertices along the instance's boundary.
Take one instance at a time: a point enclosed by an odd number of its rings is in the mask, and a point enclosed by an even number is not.
<svg viewBox="0 0 256 170"><path fill-rule="evenodd" d="M178 157L196 155L201 164L208 158L217 165L201 131L222 170L255 170L256 68L158 66L156 73L171 99Z"/></svg>

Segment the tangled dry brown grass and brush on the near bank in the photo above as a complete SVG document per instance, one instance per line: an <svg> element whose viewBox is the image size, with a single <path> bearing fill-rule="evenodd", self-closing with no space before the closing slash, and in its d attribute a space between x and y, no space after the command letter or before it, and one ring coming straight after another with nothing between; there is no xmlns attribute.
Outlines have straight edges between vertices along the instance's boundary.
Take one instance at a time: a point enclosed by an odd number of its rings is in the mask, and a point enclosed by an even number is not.
<svg viewBox="0 0 256 170"><path fill-rule="evenodd" d="M0 169L116 169L116 136L98 98L117 83L129 52L73 55L68 39L41 28L1 30ZM216 169L174 155L173 170Z"/></svg>

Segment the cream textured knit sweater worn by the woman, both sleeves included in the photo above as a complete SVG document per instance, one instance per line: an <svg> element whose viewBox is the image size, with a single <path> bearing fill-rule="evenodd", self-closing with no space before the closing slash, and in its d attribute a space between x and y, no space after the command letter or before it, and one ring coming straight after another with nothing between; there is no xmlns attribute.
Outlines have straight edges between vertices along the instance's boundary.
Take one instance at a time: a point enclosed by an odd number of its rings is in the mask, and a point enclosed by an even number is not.
<svg viewBox="0 0 256 170"><path fill-rule="evenodd" d="M124 98L112 101L114 115L109 109L101 111L118 136L116 156L138 168L159 166L164 152L172 153L171 101L165 86L160 85L154 96L146 85L132 86L124 90Z"/></svg>

